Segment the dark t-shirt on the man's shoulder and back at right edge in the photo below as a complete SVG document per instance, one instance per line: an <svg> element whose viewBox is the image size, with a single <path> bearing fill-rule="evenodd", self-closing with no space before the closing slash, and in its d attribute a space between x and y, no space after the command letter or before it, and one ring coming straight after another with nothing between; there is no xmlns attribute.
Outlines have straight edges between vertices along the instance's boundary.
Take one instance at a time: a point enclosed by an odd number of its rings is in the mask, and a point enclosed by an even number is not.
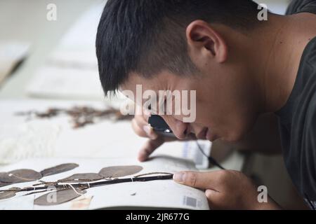
<svg viewBox="0 0 316 224"><path fill-rule="evenodd" d="M315 13L316 0L292 1L287 14ZM277 111L284 161L311 209L316 209L316 37L306 46L287 104Z"/></svg>

